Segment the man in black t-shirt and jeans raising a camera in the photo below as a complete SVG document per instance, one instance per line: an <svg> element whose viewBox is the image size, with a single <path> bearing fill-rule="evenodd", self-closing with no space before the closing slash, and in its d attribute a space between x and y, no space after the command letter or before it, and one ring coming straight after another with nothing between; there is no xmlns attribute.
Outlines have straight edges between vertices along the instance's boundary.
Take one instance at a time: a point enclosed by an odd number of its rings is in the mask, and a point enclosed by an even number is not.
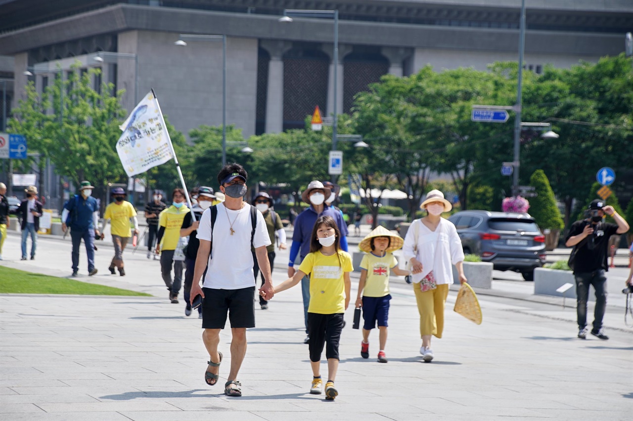
<svg viewBox="0 0 633 421"><path fill-rule="evenodd" d="M629 231L629 224L604 200L596 199L589 204L586 219L576 221L565 240L565 246L575 248L573 276L576 279L578 337L587 338L587 300L589 286L596 290L596 308L591 334L599 339L609 339L602 327L606 308L606 276L609 238L614 234ZM602 221L603 217L613 217L616 224ZM574 250L572 250L572 253Z"/></svg>

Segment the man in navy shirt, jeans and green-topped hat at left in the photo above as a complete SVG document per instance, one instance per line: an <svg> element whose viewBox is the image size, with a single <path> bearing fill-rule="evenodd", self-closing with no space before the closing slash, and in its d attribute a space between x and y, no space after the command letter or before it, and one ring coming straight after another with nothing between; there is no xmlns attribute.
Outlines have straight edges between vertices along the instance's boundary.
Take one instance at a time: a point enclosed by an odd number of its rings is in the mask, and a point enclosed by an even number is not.
<svg viewBox="0 0 633 421"><path fill-rule="evenodd" d="M73 241L72 276L77 276L79 271L79 246L82 238L88 257L88 274L92 276L97 273L97 268L94 267L94 238L101 236L101 233L97 229L99 206L97 199L92 197L93 189L90 181L82 181L79 185L79 194L70 198L61 211L61 228L64 231L70 228L70 237Z"/></svg>

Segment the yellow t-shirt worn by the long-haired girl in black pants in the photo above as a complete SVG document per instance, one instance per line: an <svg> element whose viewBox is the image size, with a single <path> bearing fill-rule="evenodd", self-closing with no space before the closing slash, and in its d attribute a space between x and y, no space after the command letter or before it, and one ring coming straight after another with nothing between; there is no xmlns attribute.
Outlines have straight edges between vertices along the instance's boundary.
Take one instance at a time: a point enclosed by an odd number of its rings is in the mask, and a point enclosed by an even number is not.
<svg viewBox="0 0 633 421"><path fill-rule="evenodd" d="M308 312L335 314L345 312L344 272L354 270L348 252L339 250L331 256L320 251L306 255L299 271L310 274L310 306Z"/></svg>

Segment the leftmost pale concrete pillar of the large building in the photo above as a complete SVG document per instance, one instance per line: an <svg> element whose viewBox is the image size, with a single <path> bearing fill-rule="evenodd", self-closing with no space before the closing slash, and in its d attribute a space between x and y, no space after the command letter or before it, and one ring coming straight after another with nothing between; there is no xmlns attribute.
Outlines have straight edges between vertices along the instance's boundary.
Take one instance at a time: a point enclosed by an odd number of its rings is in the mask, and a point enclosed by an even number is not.
<svg viewBox="0 0 633 421"><path fill-rule="evenodd" d="M284 131L284 53L292 44L286 41L261 40L260 47L270 54L266 88L266 133Z"/></svg>

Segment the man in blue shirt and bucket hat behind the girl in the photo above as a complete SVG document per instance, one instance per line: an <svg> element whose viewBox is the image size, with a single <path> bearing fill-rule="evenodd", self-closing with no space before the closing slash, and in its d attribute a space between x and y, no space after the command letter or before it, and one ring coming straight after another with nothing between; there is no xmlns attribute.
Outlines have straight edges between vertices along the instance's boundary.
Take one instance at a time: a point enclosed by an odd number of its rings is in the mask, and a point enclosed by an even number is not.
<svg viewBox="0 0 633 421"><path fill-rule="evenodd" d="M327 195L325 194L327 193ZM302 262L304 257L310 253L310 242L312 240L312 228L316 219L320 216L330 216L334 219L339 231L341 231L341 250L348 251L348 226L343 220L341 212L330 207L325 203L325 198L330 196L330 189L325 188L323 183L318 180L310 181L308 188L301 193L303 202L310 204L308 209L301 212L294 221L294 232L292 233L292 246L290 248L290 261L288 262L288 277L294 276L294 262L297 255ZM306 326L306 339L303 343L310 341L310 333L308 332L308 306L310 305L310 278L305 276L301 279L301 293L303 295L303 317Z"/></svg>

